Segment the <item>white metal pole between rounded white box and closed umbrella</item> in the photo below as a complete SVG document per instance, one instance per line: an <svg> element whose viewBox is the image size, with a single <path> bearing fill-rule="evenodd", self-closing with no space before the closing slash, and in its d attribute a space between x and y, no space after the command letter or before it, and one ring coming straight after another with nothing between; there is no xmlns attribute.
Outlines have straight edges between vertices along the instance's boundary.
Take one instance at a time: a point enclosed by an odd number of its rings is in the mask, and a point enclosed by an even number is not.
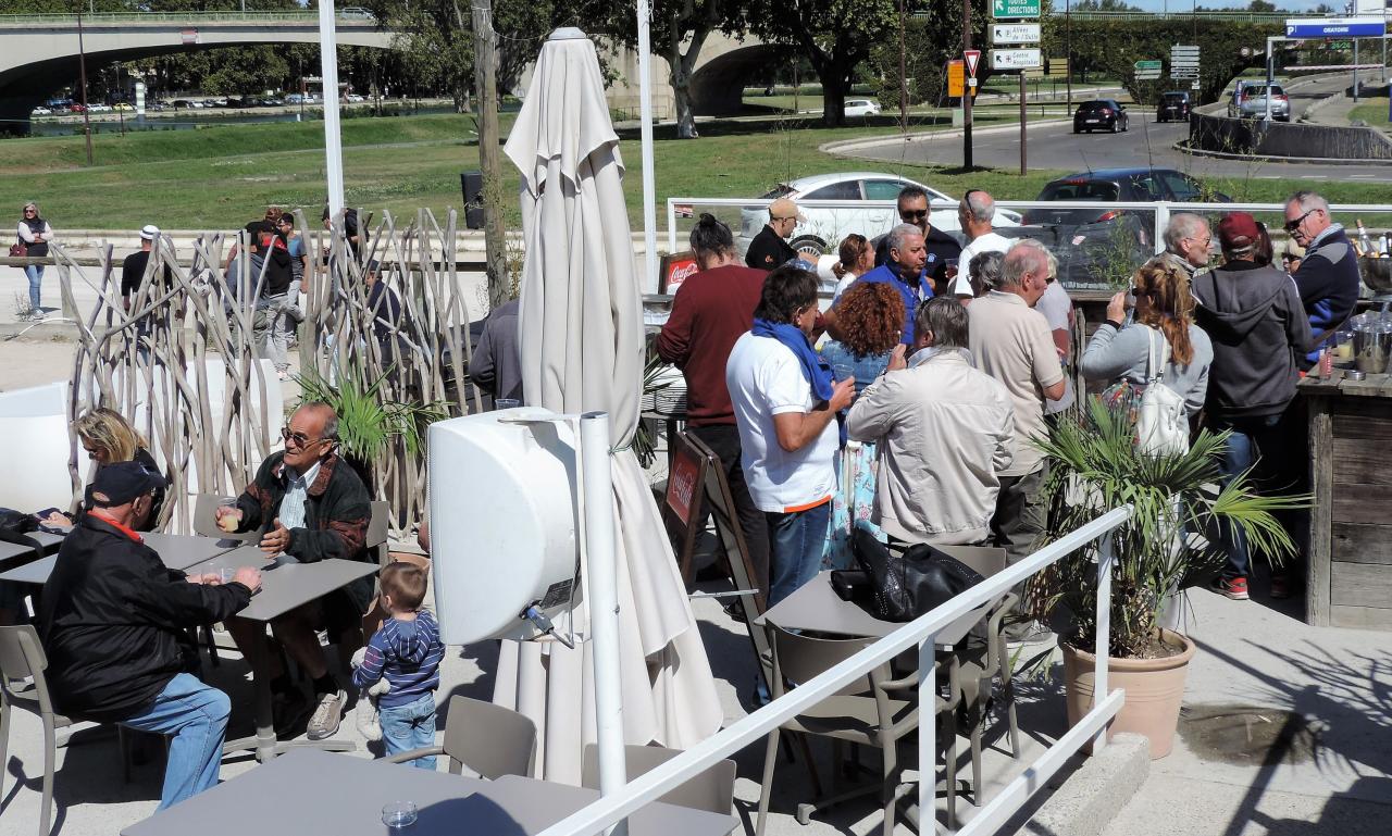
<svg viewBox="0 0 1392 836"><path fill-rule="evenodd" d="M614 485L610 480L610 417L580 416L580 488L585 501L585 556L589 570L590 634L594 647L594 728L600 791L628 783L624 765L624 691L618 652L618 558L614 551ZM628 835L628 821L610 830Z"/></svg>

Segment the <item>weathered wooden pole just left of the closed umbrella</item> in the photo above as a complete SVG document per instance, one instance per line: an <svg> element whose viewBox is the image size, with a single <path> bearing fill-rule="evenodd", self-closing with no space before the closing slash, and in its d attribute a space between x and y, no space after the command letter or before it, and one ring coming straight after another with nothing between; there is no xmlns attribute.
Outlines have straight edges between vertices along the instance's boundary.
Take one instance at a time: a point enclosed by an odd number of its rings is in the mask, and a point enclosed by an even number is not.
<svg viewBox="0 0 1392 836"><path fill-rule="evenodd" d="M483 249L489 307L508 300L508 260L503 231L503 167L498 159L498 81L494 70L493 0L473 0L473 85L479 89L479 168L483 171ZM455 14L459 6L455 4ZM459 19L462 26L464 19Z"/></svg>

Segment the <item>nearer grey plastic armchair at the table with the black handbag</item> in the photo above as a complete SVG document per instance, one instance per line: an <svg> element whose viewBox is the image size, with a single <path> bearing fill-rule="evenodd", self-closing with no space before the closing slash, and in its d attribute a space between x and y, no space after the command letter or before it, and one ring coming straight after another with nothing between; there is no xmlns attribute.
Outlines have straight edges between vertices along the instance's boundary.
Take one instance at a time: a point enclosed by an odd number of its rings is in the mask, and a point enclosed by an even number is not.
<svg viewBox="0 0 1392 836"><path fill-rule="evenodd" d="M770 625L774 638L773 697L784 696L784 682L807 682L823 670L853 657L869 645L871 638L816 638L807 634L789 633L778 625ZM951 657L949 657L951 659ZM941 673L942 666L937 670ZM956 829L956 734L951 721L958 707L960 691L956 684L956 666L948 666L948 697L937 697L934 722L938 726L937 739L945 748L948 828ZM919 728L917 672L902 679L889 679L889 666L881 665L864 680L848 684L838 694L823 700L806 714L800 714L768 734L768 748L764 753L764 778L759 797L759 821L756 836L764 833L764 819L768 815L768 794L773 789L774 766L778 754L781 732L817 734L852 744L880 748L884 753L881 780L855 787L845 793L818 798L812 804L798 805L798 821L807 823L812 814L823 807L839 804L849 798L878 791L884 804L884 836L894 835L895 791L899 786L902 768L898 744L902 737ZM869 687L867 687L869 686ZM895 698L895 696L899 696ZM934 765L919 766L920 780L933 780ZM920 812L927 817L928 812Z"/></svg>

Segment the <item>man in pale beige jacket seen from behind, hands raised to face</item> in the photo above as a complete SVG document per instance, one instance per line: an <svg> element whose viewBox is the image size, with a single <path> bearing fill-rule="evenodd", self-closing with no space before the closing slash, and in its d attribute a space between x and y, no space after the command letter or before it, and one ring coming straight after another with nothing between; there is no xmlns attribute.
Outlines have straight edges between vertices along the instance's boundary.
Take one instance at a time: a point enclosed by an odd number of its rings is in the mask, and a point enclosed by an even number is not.
<svg viewBox="0 0 1392 836"><path fill-rule="evenodd" d="M920 305L913 355L905 362L896 349L846 419L852 438L880 445L874 523L896 540L962 545L991 534L1015 412L1005 387L972 364L966 310L951 296Z"/></svg>

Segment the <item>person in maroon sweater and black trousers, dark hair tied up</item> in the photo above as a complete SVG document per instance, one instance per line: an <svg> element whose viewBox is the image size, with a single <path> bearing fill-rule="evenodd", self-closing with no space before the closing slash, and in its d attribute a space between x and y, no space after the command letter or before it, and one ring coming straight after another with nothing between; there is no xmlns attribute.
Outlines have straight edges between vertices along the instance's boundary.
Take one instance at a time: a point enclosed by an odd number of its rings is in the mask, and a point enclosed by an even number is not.
<svg viewBox="0 0 1392 836"><path fill-rule="evenodd" d="M743 267L729 227L702 214L690 235L699 273L682 282L672 314L657 335L657 355L686 378L686 431L720 456L725 481L745 533L754 580L768 594L768 533L754 508L739 465L739 430L725 387L725 362L735 341L749 331L764 288L764 270Z"/></svg>

